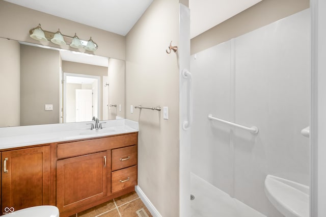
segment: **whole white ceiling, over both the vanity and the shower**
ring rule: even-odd
[[[125,36],[153,0],[5,0]],[[262,0],[189,0],[191,38]]]

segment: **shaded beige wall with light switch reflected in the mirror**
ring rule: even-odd
[[[59,123],[59,62],[58,50],[20,45],[21,126]],[[45,111],[45,104],[53,104],[53,111]]]

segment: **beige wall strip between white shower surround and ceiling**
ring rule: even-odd
[[[309,8],[309,0],[263,0],[191,40],[191,54]]]

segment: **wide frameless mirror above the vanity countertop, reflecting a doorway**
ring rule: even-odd
[[[125,118],[125,62],[0,38],[0,127]]]

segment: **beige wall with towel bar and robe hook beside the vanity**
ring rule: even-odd
[[[138,185],[162,216],[179,214],[179,1],[154,0],[126,36],[127,119],[139,122]],[[130,105],[168,106],[162,112]]]

